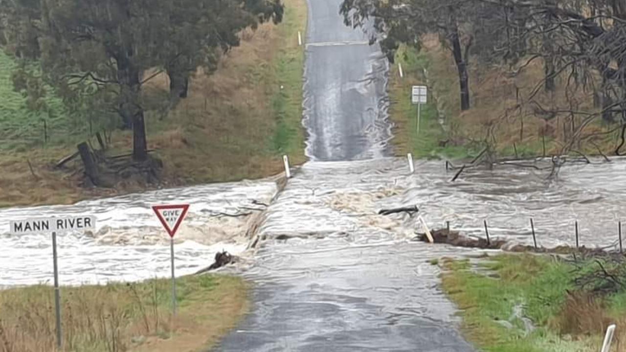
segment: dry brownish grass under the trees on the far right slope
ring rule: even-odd
[[[511,76],[510,70],[503,66],[481,66],[475,61],[471,62],[469,87],[472,107],[468,111],[460,111],[458,74],[451,53],[441,46],[435,36],[426,36],[423,44],[421,55],[425,58],[425,62],[418,62],[419,70],[423,67],[428,68],[428,84],[431,91],[434,91],[439,98],[438,107],[443,110],[446,125],[449,127],[448,135],[440,139],[448,139],[461,145],[489,139],[501,155],[513,155],[513,143],[515,143],[520,156],[531,156],[543,153],[543,137],[545,137],[546,153],[558,153],[571,139],[572,121],[565,113],[553,118],[541,113],[535,104],[529,102],[532,92],[538,88],[538,94],[533,100],[540,103],[546,110],[553,108],[568,110],[570,108],[566,98],[568,94],[572,98],[570,101],[573,101],[575,110],[598,111],[598,108],[593,106],[593,95],[590,91],[566,90],[567,75],[565,73],[557,77],[557,90],[554,93],[544,91],[543,86],[538,87],[538,83],[543,78],[540,60],[532,61],[521,70],[520,75],[516,76]],[[415,68],[405,67],[404,69],[409,71]],[[392,114],[394,114],[393,106]],[[409,128],[406,122],[403,122],[403,118],[397,116],[403,114],[406,115],[405,112],[398,111],[396,116],[392,116],[394,122],[398,123],[396,134],[401,141],[408,140],[409,144],[416,144],[419,138],[410,133],[413,126]],[[574,119],[574,128],[581,125],[583,118],[583,116],[577,116]],[[583,136],[608,132],[613,128],[615,126],[600,122],[598,117],[595,122],[585,128]],[[489,130],[493,131],[493,136],[488,135]],[[617,146],[617,137],[617,132],[598,135],[587,138],[580,144],[577,143],[574,148],[583,153],[598,153],[595,146],[598,145],[603,153],[610,154]],[[401,142],[401,148],[404,148],[406,143]],[[434,148],[433,143],[427,144],[424,146],[418,144],[417,147],[418,149],[419,147]],[[419,154],[419,150],[414,153]]]

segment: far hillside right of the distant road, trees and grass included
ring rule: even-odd
[[[555,169],[564,155],[622,154],[624,1],[344,0],[341,13],[363,28],[373,18],[372,38],[398,64],[398,153],[555,156]],[[431,91],[419,133],[416,83]]]

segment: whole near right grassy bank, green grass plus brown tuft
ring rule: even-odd
[[[610,323],[617,323],[611,351],[626,351],[626,289],[592,294],[574,282],[598,270],[595,261],[576,267],[506,254],[478,264],[445,259],[442,266],[443,289],[461,309],[464,336],[484,351],[598,351]]]

